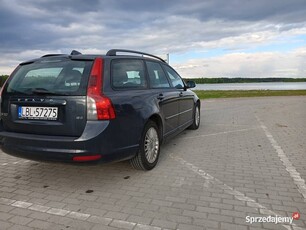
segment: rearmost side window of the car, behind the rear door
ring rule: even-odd
[[[111,62],[111,81],[115,89],[144,89],[147,81],[142,60],[118,59]]]

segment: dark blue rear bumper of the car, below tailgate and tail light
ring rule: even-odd
[[[138,145],[120,147],[112,141],[108,126],[109,121],[89,121],[80,137],[2,131],[0,147],[7,154],[39,161],[73,162],[75,157],[101,155],[96,161],[110,162],[133,157]]]

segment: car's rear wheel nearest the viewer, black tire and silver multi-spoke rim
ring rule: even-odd
[[[145,125],[141,137],[139,151],[137,155],[130,160],[135,169],[151,170],[157,162],[160,152],[160,132],[158,126],[153,121],[148,121]]]

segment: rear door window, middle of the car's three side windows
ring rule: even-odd
[[[167,80],[167,77],[160,66],[160,64],[156,62],[146,62],[147,69],[150,78],[151,88],[167,88],[170,87],[170,84]]]

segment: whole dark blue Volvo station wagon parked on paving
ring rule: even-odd
[[[161,58],[131,50],[48,54],[1,89],[0,144],[14,156],[157,164],[163,141],[200,125],[200,100]]]

